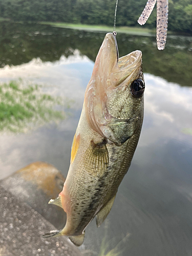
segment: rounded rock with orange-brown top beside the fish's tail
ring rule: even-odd
[[[0,185],[20,202],[30,205],[57,229],[61,229],[66,223],[66,213],[48,202],[58,196],[64,182],[65,178],[53,165],[34,162],[0,181]]]

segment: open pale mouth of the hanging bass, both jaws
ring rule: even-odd
[[[141,67],[142,52],[136,50],[119,58],[116,33],[107,33],[95,60],[93,76],[101,81],[100,78],[104,75],[106,80],[110,79],[111,84],[117,87],[132,73],[137,73],[139,76]],[[105,84],[104,87],[109,86]]]

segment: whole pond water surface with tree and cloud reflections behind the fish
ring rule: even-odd
[[[42,25],[0,23],[0,82],[38,84],[69,101],[64,120],[0,133],[0,178],[35,161],[67,176],[84,91],[104,38]],[[114,206],[101,227],[86,229],[86,255],[191,255],[192,37],[118,34],[120,56],[143,53],[145,110],[140,140]],[[19,80],[19,79],[22,79]],[[30,126],[33,126],[30,123]],[[118,252],[118,254],[115,254]],[[100,253],[100,254],[99,254]]]

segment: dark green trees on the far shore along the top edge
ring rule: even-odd
[[[119,0],[117,26],[139,26],[147,0]],[[0,17],[23,22],[113,26],[116,0],[0,0]],[[155,28],[156,8],[145,27]],[[192,32],[192,0],[169,0],[168,30]]]

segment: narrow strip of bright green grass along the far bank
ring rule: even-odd
[[[53,27],[60,28],[71,28],[86,31],[103,31],[103,32],[113,32],[113,27],[99,26],[99,25],[86,25],[86,24],[70,24],[70,23],[56,23],[56,22],[39,22],[43,25],[51,25]],[[116,27],[117,33],[135,34],[135,35],[155,35],[155,30],[142,28],[142,27]]]

